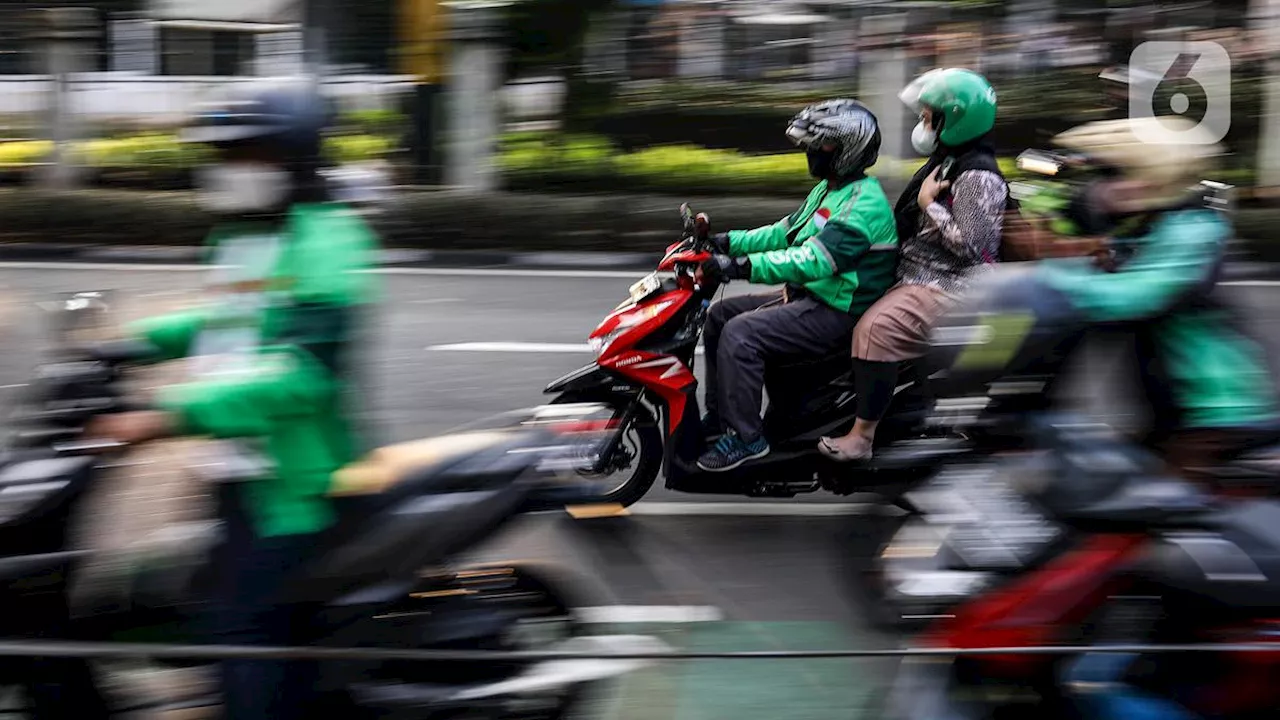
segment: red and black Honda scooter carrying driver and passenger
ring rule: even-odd
[[[620,475],[607,502],[631,505],[666,469],[667,488],[690,493],[794,497],[820,489],[878,492],[896,500],[928,477],[942,459],[964,452],[963,438],[925,424],[932,401],[908,364],[893,405],[877,433],[893,443],[873,465],[844,465],[817,450],[822,436],[854,423],[850,355],[838,352],[765,372],[765,437],[773,451],[728,473],[696,466],[708,429],[701,424],[694,361],[707,311],[721,290],[701,277],[712,256],[709,219],[681,206],[685,237],[669,246],[658,269],[631,286],[628,296],[590,334],[596,360],[547,386],[553,402],[602,402],[616,409],[618,430],[585,475]]]

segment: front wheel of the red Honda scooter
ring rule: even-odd
[[[640,501],[662,470],[662,430],[654,413],[643,400],[614,395],[562,395],[552,404],[599,402],[614,411],[614,418],[625,416],[627,406],[635,404],[630,420],[618,428],[622,433],[609,457],[603,459],[603,470],[595,470],[584,459],[584,466],[576,470],[577,478],[599,484],[599,502],[617,503],[623,507]],[[594,460],[594,459],[593,459]]]

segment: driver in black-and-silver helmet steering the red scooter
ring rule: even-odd
[[[787,137],[805,149],[818,184],[777,223],[716,236],[718,252],[703,265],[722,279],[785,284],[710,307],[704,425],[723,434],[698,460],[707,471],[768,455],[760,418],[767,363],[837,350],[893,282],[892,208],[867,176],[879,156],[876,115],[855,100],[827,100],[795,115]]]

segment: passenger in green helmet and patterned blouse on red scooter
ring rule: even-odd
[[[911,145],[928,155],[895,208],[902,245],[897,283],[854,331],[854,427],[818,448],[837,461],[868,460],[888,411],[899,364],[928,350],[928,333],[975,268],[1000,255],[1009,186],[987,137],[996,91],[959,68],[924,73],[900,94],[920,117]]]

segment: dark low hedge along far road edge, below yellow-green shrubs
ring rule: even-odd
[[[896,196],[900,183],[887,183]],[[758,227],[791,213],[790,196],[676,197],[662,195],[547,195],[452,191],[403,192],[374,224],[388,247],[453,250],[591,250],[658,254],[680,231],[676,210],[689,201],[716,229]],[[188,192],[0,190],[0,241],[192,246],[211,219]],[[1280,210],[1243,210],[1238,228],[1254,254],[1280,259],[1274,247]]]

